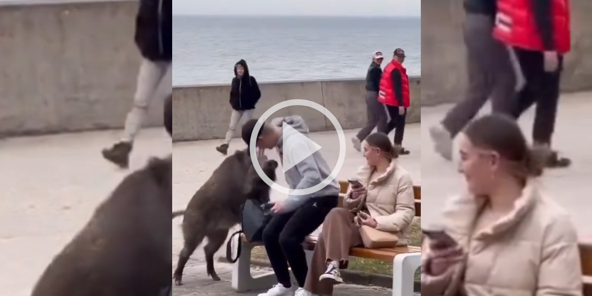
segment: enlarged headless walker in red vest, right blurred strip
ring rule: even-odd
[[[551,150],[563,57],[571,45],[569,0],[497,0],[494,37],[513,48],[526,82],[509,113],[519,118],[536,103],[535,146],[547,152],[547,166],[569,166],[570,159]]]

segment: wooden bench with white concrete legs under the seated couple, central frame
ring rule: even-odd
[[[341,195],[339,207],[343,206],[343,199],[348,190],[349,183],[340,181]],[[416,217],[421,217],[422,213],[422,193],[420,186],[415,186],[415,208]],[[314,247],[317,243],[317,236],[309,236],[304,242],[304,250],[307,261],[310,265]],[[232,288],[237,292],[246,292],[258,289],[269,288],[276,284],[277,279],[273,273],[253,276],[251,274],[251,252],[253,247],[261,246],[260,243],[249,243],[243,238],[242,250],[239,260],[233,265]],[[365,247],[352,247],[349,256],[377,259],[385,262],[392,262],[392,295],[408,296],[413,295],[414,276],[420,266],[421,249],[420,247],[405,246],[392,247],[385,249],[366,249]]]

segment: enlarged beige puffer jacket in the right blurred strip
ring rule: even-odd
[[[510,214],[470,237],[484,205],[482,198],[465,196],[446,207],[446,231],[467,256],[442,276],[422,274],[424,296],[582,295],[580,254],[570,215],[539,191],[537,181],[529,181]],[[426,242],[422,252],[428,255]]]

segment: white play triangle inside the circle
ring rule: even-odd
[[[284,173],[322,148],[287,123],[282,124],[282,143],[284,143],[282,155]]]

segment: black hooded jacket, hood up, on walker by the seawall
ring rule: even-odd
[[[244,68],[244,74],[239,78],[236,73],[236,66],[241,65]],[[232,79],[230,89],[230,106],[237,111],[255,109],[255,105],[261,98],[261,91],[255,77],[249,75],[247,62],[239,60],[234,64],[234,78]]]

